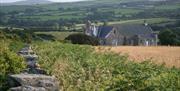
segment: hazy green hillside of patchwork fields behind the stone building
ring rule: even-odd
[[[2,6],[0,26],[26,28],[72,28],[74,24],[91,21],[121,21],[146,18],[179,19],[178,0],[95,0],[45,5]],[[46,27],[44,27],[46,26]]]

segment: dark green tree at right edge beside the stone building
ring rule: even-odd
[[[159,33],[159,39],[162,45],[180,45],[180,32],[166,29]]]

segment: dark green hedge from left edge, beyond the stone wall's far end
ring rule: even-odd
[[[35,40],[55,40],[55,37],[48,34],[36,34],[31,30],[0,29],[0,38],[14,41],[15,44],[31,43]],[[14,45],[14,46],[17,46]],[[22,46],[20,46],[22,47]]]

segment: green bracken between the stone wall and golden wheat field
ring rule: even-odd
[[[180,90],[180,69],[134,63],[112,52],[97,53],[91,46],[38,42],[34,48],[42,68],[65,91]]]

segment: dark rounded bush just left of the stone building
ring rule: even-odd
[[[69,35],[65,40],[71,41],[73,44],[87,44],[87,45],[99,45],[99,41],[95,37],[87,36],[85,34],[72,34]]]

